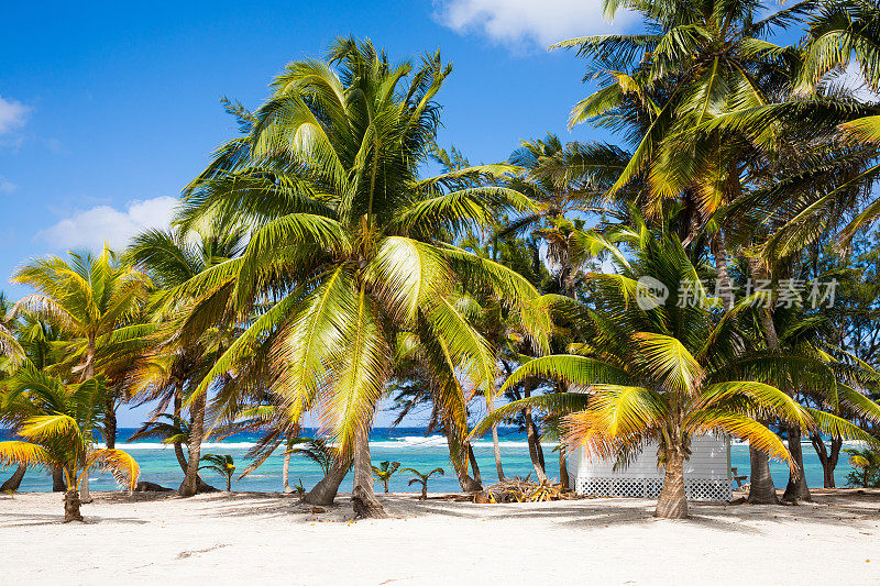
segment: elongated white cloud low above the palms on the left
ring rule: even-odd
[[[58,248],[99,248],[107,242],[119,250],[143,230],[167,226],[177,203],[176,198],[162,196],[130,201],[125,210],[98,206],[41,230],[36,237]]]

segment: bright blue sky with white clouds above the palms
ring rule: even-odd
[[[246,4],[246,5],[244,5]],[[583,64],[554,41],[622,30],[597,0],[387,2],[16,2],[0,36],[0,274],[23,259],[167,222],[180,188],[233,133],[219,99],[249,108],[287,62],[338,35],[395,59],[442,51],[442,144],[473,162],[521,139],[570,133]],[[23,288],[8,284],[18,298]],[[143,411],[120,413],[134,425]],[[388,420],[382,416],[377,424]]]

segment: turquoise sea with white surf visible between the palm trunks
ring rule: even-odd
[[[177,488],[183,479],[183,473],[174,456],[174,450],[155,441],[128,442],[127,439],[134,432],[133,429],[120,429],[117,447],[127,450],[141,466],[141,479],[157,483],[169,488]],[[306,434],[304,432],[304,434]],[[501,431],[501,451],[504,472],[507,476],[526,476],[532,472],[529,460],[528,446],[521,433],[513,430]],[[252,434],[238,434],[223,440],[222,442],[207,442],[202,446],[202,454],[231,454],[235,458],[239,471],[244,471],[249,461],[244,458],[245,452],[253,445],[256,436]],[[480,464],[484,482],[492,484],[497,478],[495,472],[495,458],[492,449],[492,438],[487,436],[477,440],[473,444],[474,454]],[[559,466],[556,452],[551,452],[552,445],[544,445],[544,457],[547,458],[548,474],[558,476]],[[383,460],[400,462],[403,467],[416,468],[420,472],[428,472],[436,467],[446,471],[444,476],[431,477],[429,490],[431,491],[458,491],[460,489],[458,479],[449,463],[449,450],[446,439],[440,435],[425,436],[425,430],[418,428],[395,428],[395,429],[374,429],[371,433],[371,451],[373,462],[377,464]],[[822,486],[822,464],[818,462],[813,446],[809,443],[803,445],[804,467],[806,479],[811,487]],[[282,490],[282,463],[283,450],[277,450],[275,454],[263,463],[261,467],[235,482],[233,490],[254,490],[254,491],[279,491]],[[746,445],[734,445],[730,450],[730,464],[739,468],[739,474],[749,473],[749,454]],[[11,471],[7,469],[6,475]],[[771,463],[771,472],[777,487],[784,487],[788,480],[788,468],[783,464]],[[835,471],[837,486],[845,484],[844,478],[849,472],[846,457],[840,458],[840,463]],[[290,483],[297,483],[301,478],[302,485],[308,489],[321,479],[320,468],[302,458],[294,456],[290,460]],[[206,482],[217,487],[222,487],[223,483],[216,473],[205,471]],[[408,486],[411,478],[409,473],[397,473],[393,476],[391,489],[395,493],[417,493],[420,490],[418,485]],[[348,478],[342,485],[342,490],[350,489],[351,479]],[[90,478],[92,490],[113,490],[117,484],[109,474],[92,475]],[[48,491],[52,489],[52,479],[42,473],[29,472],[21,485],[22,491]],[[376,489],[381,490],[380,484]]]

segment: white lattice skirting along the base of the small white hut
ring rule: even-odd
[[[663,488],[662,478],[584,478],[579,477],[574,490],[593,497],[657,498]],[[684,493],[690,500],[730,500],[729,479],[684,478]]]

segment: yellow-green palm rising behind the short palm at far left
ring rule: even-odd
[[[15,270],[12,281],[37,290],[19,300],[13,313],[24,311],[50,321],[70,336],[68,352],[76,361],[70,372],[81,382],[95,377],[99,339],[135,318],[152,287],[146,275],[119,263],[107,246],[98,256],[68,253],[67,261],[58,256],[37,258]],[[116,442],[117,399],[112,392],[105,396],[105,440],[109,446]],[[88,478],[82,484],[82,499],[89,500]]]

